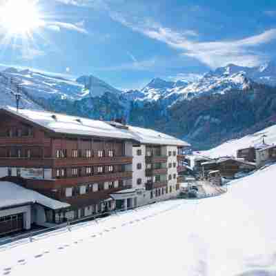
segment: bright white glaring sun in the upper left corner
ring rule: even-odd
[[[43,25],[37,0],[0,1],[0,26],[10,36],[26,36]]]

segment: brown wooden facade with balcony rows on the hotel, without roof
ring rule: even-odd
[[[25,178],[22,168],[48,170],[48,177]],[[57,134],[3,110],[0,169],[1,177],[23,177],[26,188],[68,202],[73,210],[108,199],[132,183],[132,156],[125,155],[125,140]],[[93,184],[97,190],[90,188]],[[66,188],[76,192],[68,196]]]

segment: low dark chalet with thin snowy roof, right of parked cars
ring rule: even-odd
[[[208,177],[208,172],[219,170],[221,177],[233,179],[237,172],[250,172],[255,170],[254,163],[233,158],[219,158],[201,164],[204,177]]]

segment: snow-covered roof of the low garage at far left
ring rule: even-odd
[[[50,209],[68,208],[70,205],[45,195],[23,188],[8,181],[0,181],[0,208],[8,208],[20,204],[41,204]]]

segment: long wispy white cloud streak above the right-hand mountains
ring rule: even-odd
[[[226,66],[228,63],[235,63],[239,66],[257,66],[267,61],[269,57],[257,51],[256,48],[276,39],[276,29],[270,29],[244,39],[199,42],[190,38],[190,31],[188,33],[187,30],[176,32],[150,19],[132,22],[119,13],[113,12],[110,16],[135,32],[164,42],[171,48],[180,50],[182,55],[193,57],[211,68]]]

